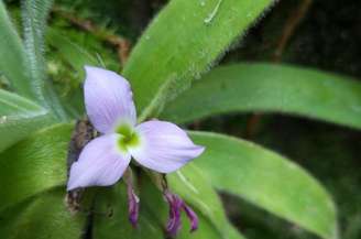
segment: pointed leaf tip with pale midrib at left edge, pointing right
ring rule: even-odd
[[[0,89],[0,152],[53,121],[44,108]]]

